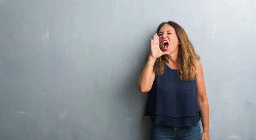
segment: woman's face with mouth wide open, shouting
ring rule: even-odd
[[[158,36],[160,49],[162,51],[174,53],[175,50],[178,50],[178,37],[175,29],[171,25],[163,25],[163,27],[161,27],[159,30]]]

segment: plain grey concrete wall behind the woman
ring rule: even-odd
[[[211,140],[255,140],[253,0],[0,0],[0,139],[147,140],[137,79],[169,20],[202,58]]]

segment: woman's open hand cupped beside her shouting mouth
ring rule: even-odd
[[[151,39],[151,51],[150,51],[150,57],[151,59],[157,59],[163,55],[170,54],[167,51],[162,51],[159,46],[159,36],[157,34],[154,34],[154,38]]]

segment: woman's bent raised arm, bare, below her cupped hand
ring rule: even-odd
[[[155,59],[148,57],[148,62],[146,63],[142,73],[140,74],[140,78],[138,81],[138,87],[140,92],[148,92],[151,90],[152,84],[154,82],[155,73],[153,71]]]

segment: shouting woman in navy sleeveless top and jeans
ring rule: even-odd
[[[152,122],[150,140],[209,140],[209,107],[199,60],[180,25],[159,25],[138,80],[139,90],[148,92],[144,115]]]

